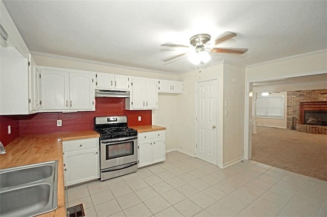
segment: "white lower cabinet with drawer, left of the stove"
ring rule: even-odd
[[[63,141],[62,149],[65,186],[100,177],[99,138]]]

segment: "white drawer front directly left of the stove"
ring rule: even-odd
[[[99,138],[63,141],[63,151],[75,151],[87,148],[98,148]]]

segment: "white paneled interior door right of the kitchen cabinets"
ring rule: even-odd
[[[217,79],[197,83],[196,156],[217,165]]]

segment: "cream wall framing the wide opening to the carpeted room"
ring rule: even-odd
[[[246,67],[246,82],[245,82],[245,122],[244,122],[244,155],[245,158],[251,158],[251,107],[248,97],[250,83],[267,80],[274,80],[287,77],[306,76],[314,74],[327,73],[327,50],[321,50],[304,55],[284,58],[280,60],[270,61],[262,64]]]

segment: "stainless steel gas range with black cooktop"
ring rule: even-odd
[[[100,133],[100,180],[137,171],[137,131],[127,127],[126,116],[96,117]]]

